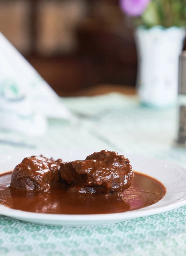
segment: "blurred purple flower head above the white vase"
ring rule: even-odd
[[[141,16],[151,0],[120,0],[120,6],[128,16]]]

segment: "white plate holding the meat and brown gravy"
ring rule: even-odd
[[[25,156],[39,155],[43,152],[28,152],[26,155],[16,153],[9,156],[0,157],[0,173],[10,171]],[[44,154],[46,157],[54,159],[63,156],[64,161],[81,160],[89,154],[85,152],[52,152]],[[162,182],[167,189],[165,197],[158,203],[144,207],[139,210],[128,211],[116,214],[96,214],[96,215],[64,215],[64,214],[40,214],[9,209],[0,205],[0,214],[16,218],[18,220],[32,222],[36,224],[52,226],[96,226],[110,223],[122,222],[136,217],[158,214],[169,211],[186,204],[186,169],[168,163],[167,161],[149,159],[141,155],[125,154],[132,164],[133,170],[147,174]]]

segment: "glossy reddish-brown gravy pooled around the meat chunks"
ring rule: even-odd
[[[9,187],[12,172],[0,175],[0,204],[16,210],[46,214],[110,214],[140,209],[161,200],[165,187],[149,176],[134,172],[130,188],[121,196],[67,192],[62,184],[49,193]]]

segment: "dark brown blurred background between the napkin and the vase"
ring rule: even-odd
[[[118,0],[0,0],[0,31],[60,96],[135,93],[133,27]]]

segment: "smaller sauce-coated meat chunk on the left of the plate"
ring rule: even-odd
[[[61,159],[54,161],[42,155],[26,157],[14,168],[10,186],[22,190],[48,191],[59,182],[60,163]]]

